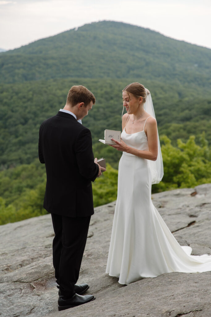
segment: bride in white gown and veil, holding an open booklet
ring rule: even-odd
[[[151,185],[163,177],[163,161],[150,92],[140,83],[122,91],[122,151],[106,273],[130,284],[163,273],[211,270],[211,256],[191,256],[152,204]]]

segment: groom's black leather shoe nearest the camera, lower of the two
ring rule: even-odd
[[[94,301],[94,300],[95,300],[95,296],[93,295],[81,296],[81,295],[75,294],[71,298],[65,298],[64,296],[59,296],[58,309],[59,311],[68,309],[71,307],[76,307],[82,304],[89,303],[90,301]]]

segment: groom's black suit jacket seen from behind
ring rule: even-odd
[[[62,216],[93,215],[91,181],[99,167],[94,163],[90,130],[59,111],[40,126],[39,159],[47,174],[43,207]]]

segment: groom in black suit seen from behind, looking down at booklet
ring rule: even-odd
[[[95,97],[86,87],[73,86],[64,109],[40,126],[39,159],[47,174],[43,207],[51,213],[55,233],[53,266],[59,310],[95,299],[81,296],[88,284],[76,284],[94,214],[91,181],[105,171],[94,160],[90,130],[81,124],[94,104]]]

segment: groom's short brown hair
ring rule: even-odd
[[[95,104],[95,96],[84,86],[72,86],[67,95],[67,103],[74,107],[80,102],[84,102],[84,106],[88,106],[90,102]]]

